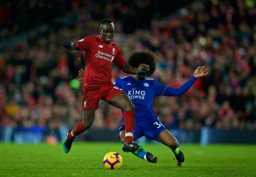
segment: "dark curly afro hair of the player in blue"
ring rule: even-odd
[[[150,74],[156,70],[154,54],[151,51],[135,51],[128,59],[128,64],[134,68],[138,68],[142,63],[149,65]]]

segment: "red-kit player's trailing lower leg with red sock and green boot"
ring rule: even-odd
[[[65,153],[68,153],[70,151],[70,148],[75,137],[92,126],[94,116],[95,109],[82,111],[83,120],[77,123],[73,130],[68,131],[66,139],[64,140],[63,150]]]

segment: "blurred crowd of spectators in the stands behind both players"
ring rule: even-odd
[[[84,69],[84,52],[60,43],[99,34],[100,20],[108,17],[126,60],[133,51],[154,52],[157,70],[151,77],[160,83],[177,88],[197,66],[209,71],[182,97],[156,97],[153,106],[166,127],[256,130],[256,2],[197,1],[164,15],[152,3],[72,0],[71,18],[54,17],[15,48],[2,46],[0,126],[73,127],[81,120],[78,71]],[[113,81],[123,75],[113,66]],[[121,116],[101,101],[93,128],[116,129]]]

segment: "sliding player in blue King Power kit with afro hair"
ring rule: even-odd
[[[183,152],[179,149],[177,139],[160,122],[159,117],[154,112],[152,103],[155,95],[162,96],[182,96],[198,77],[208,74],[204,66],[195,69],[194,74],[179,88],[172,88],[158,83],[149,77],[154,73],[156,64],[154,55],[150,51],[134,52],[128,60],[128,63],[138,69],[139,74],[134,76],[119,77],[114,85],[125,91],[135,105],[136,122],[134,126],[133,140],[145,136],[149,140],[156,140],[168,146],[175,154],[178,164],[184,162]],[[82,70],[79,75],[83,75]],[[122,111],[123,112],[123,111]],[[123,118],[122,118],[123,120]],[[118,137],[124,143],[125,125],[118,130]],[[151,152],[142,151],[135,154],[141,159],[148,160],[151,163],[157,163],[157,157]]]

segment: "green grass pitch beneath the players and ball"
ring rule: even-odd
[[[169,148],[145,144],[158,157],[152,164],[121,150],[121,143],[74,142],[70,153],[62,145],[16,145],[0,143],[1,177],[255,177],[256,145],[183,144],[185,162],[176,165]],[[107,170],[102,159],[108,151],[123,157],[119,170]]]

